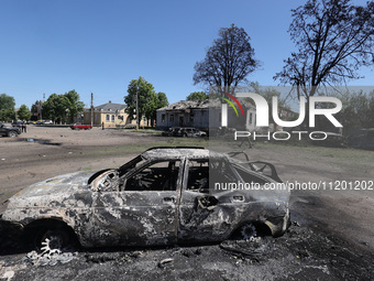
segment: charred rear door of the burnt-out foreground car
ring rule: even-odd
[[[237,182],[227,162],[215,181]],[[215,193],[209,186],[209,160],[188,160],[180,195],[178,241],[217,241],[226,239],[241,215],[230,192]],[[221,177],[221,180],[219,179]],[[211,181],[213,182],[213,181]],[[243,202],[244,203],[244,202]]]

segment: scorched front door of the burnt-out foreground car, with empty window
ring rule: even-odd
[[[95,206],[99,245],[176,241],[180,161],[147,162],[124,175],[121,191],[99,193]]]

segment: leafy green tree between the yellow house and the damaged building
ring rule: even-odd
[[[124,102],[128,105],[127,112],[130,117],[133,115],[139,116],[139,121],[145,116],[147,119],[152,119],[153,112],[157,106],[157,95],[151,83],[145,80],[143,77],[139,79],[132,79],[128,86],[129,95],[124,96]],[[138,96],[138,108],[136,112],[136,96]]]

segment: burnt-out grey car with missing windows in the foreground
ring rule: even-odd
[[[273,165],[258,163],[204,148],[153,148],[119,169],[33,184],[9,199],[1,219],[36,245],[63,246],[72,235],[84,247],[221,241],[245,236],[249,224],[279,236],[289,225],[289,191],[263,188],[284,184]]]

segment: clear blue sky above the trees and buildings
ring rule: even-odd
[[[1,0],[0,94],[16,107],[75,89],[89,106],[123,102],[139,76],[166,93],[169,102],[185,99],[194,86],[196,62],[231,23],[251,36],[261,69],[248,78],[273,80],[294,48],[287,33],[290,9],[305,1],[121,1]],[[364,1],[354,1],[364,3]],[[365,79],[350,85],[373,85]]]

